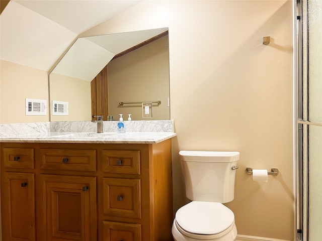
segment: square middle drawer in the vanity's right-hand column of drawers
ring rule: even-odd
[[[104,214],[141,218],[141,180],[103,178]]]

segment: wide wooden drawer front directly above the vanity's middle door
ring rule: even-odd
[[[41,169],[96,171],[96,150],[40,149]]]

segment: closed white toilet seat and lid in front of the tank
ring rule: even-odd
[[[196,239],[219,238],[235,226],[233,212],[218,202],[192,201],[176,213],[178,230]]]

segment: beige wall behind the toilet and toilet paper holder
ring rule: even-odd
[[[144,1],[85,36],[158,27],[169,27],[175,209],[187,201],[179,150],[239,151],[227,204],[238,234],[293,240],[292,1]],[[258,183],[246,167],[280,174]]]

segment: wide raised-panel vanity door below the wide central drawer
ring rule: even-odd
[[[40,175],[41,240],[97,240],[96,178]]]

